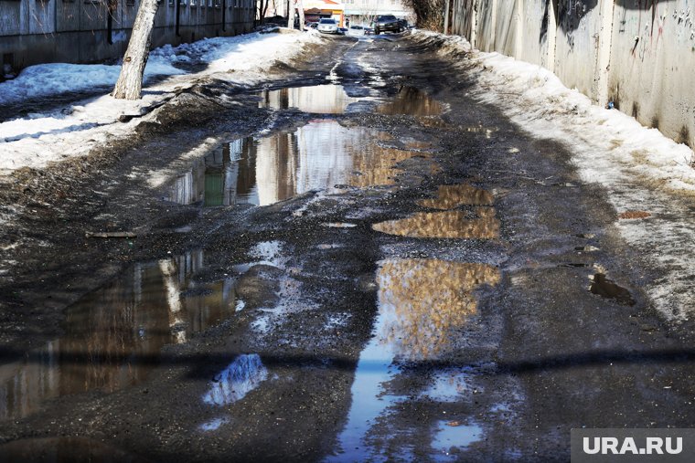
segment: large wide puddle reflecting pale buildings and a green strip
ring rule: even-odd
[[[394,164],[416,153],[382,147],[385,135],[363,127],[315,120],[295,132],[225,143],[193,163],[166,199],[189,205],[271,205],[336,185],[394,184]]]

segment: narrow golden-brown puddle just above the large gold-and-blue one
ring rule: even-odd
[[[499,220],[492,207],[476,207],[478,218],[469,218],[465,211],[416,213],[400,220],[374,224],[381,233],[399,237],[478,238],[499,237]]]

